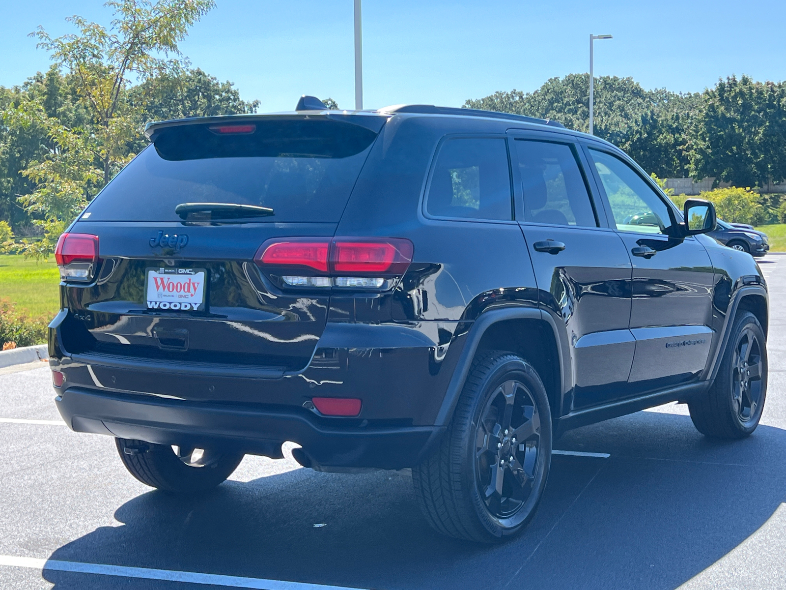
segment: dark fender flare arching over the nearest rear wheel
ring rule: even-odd
[[[534,319],[547,324],[553,332],[554,341],[556,342],[557,354],[559,356],[559,374],[560,382],[557,384],[559,387],[558,395],[564,396],[566,391],[566,382],[570,380],[571,364],[570,359],[567,358],[566,366],[566,348],[563,339],[560,337],[560,330],[557,329],[554,319],[548,313],[543,313],[538,308],[524,308],[524,307],[511,307],[493,309],[481,313],[472,323],[467,335],[467,341],[464,348],[461,349],[461,356],[459,356],[456,369],[450,382],[448,383],[443,403],[439,407],[439,413],[435,420],[435,426],[447,426],[453,418],[454,409],[458,403],[458,398],[461,395],[461,390],[464,389],[464,384],[469,374],[469,368],[472,366],[472,359],[475,357],[478,350],[478,345],[483,339],[483,334],[494,326],[494,324],[505,322],[512,319]],[[570,354],[567,352],[567,354]],[[560,399],[561,402],[561,399]]]

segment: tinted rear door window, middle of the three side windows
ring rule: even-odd
[[[597,227],[575,153],[564,143],[516,139],[524,194],[524,220]]]

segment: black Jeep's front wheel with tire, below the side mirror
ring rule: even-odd
[[[689,400],[696,430],[707,437],[750,436],[762,418],[767,396],[767,347],[764,330],[751,312],[734,319],[718,376],[709,391]]]

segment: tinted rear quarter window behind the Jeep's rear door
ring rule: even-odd
[[[437,217],[509,221],[512,190],[504,138],[452,138],[439,149],[426,199]]]

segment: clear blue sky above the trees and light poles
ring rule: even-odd
[[[194,66],[229,79],[262,112],[291,110],[300,94],[354,105],[352,0],[217,0],[182,43]],[[27,34],[72,31],[79,14],[108,24],[94,0],[0,0],[0,84],[19,84],[49,58]],[[589,33],[597,76],[645,88],[697,91],[721,76],[786,79],[786,2],[748,0],[364,0],[365,107],[460,106],[494,90],[534,90],[586,72]]]

